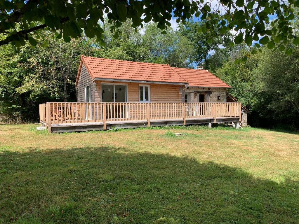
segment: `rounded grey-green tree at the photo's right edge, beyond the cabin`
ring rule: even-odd
[[[267,107],[271,116],[288,117],[299,115],[299,50],[286,56],[284,53],[273,53],[264,49],[263,60],[254,70],[257,77],[257,93],[268,99]],[[264,101],[260,99],[260,103]],[[289,108],[286,110],[286,108]]]

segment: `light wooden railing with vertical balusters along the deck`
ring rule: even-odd
[[[216,117],[241,117],[241,103],[78,103],[48,102],[39,105],[39,120],[44,126],[62,123],[157,120],[187,120]],[[51,126],[51,125],[50,125]]]

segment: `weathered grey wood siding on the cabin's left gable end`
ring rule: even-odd
[[[78,80],[78,84],[77,84],[77,102],[85,102],[85,86],[86,85],[90,85],[90,89],[91,89],[91,102],[94,102],[94,87],[93,87],[93,82],[92,79],[85,67],[85,65],[82,65],[81,68],[81,72],[80,72],[80,76],[79,76],[79,80]]]

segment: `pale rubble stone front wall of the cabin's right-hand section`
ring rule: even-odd
[[[189,103],[198,103],[199,102],[199,94],[196,94],[194,97],[194,91],[200,91],[205,94],[205,102],[226,102],[226,88],[210,88],[210,90],[205,87],[189,87],[189,89],[185,89],[185,94],[188,94],[188,102]],[[217,96],[220,96],[220,100],[217,100]]]

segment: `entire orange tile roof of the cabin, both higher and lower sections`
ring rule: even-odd
[[[81,55],[75,86],[77,86],[83,63],[92,79],[189,83],[189,86],[230,88],[229,85],[207,70],[175,68],[164,64],[131,62],[83,55]]]

